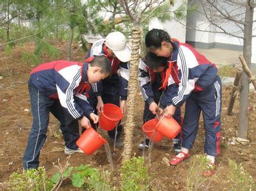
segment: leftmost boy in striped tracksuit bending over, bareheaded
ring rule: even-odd
[[[89,128],[89,119],[98,122],[94,108],[87,101],[89,83],[100,81],[111,74],[105,56],[79,63],[59,60],[43,63],[31,71],[28,81],[33,124],[23,157],[24,169],[37,169],[39,154],[46,142],[49,112],[60,121],[65,140],[65,154],[82,153],[76,145],[81,126]]]

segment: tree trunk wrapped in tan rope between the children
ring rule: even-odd
[[[134,26],[132,29],[132,58],[130,61],[130,79],[128,85],[127,118],[124,126],[124,151],[123,163],[132,156],[133,129],[135,127],[135,101],[138,86],[139,70],[139,46],[141,40],[141,29]]]

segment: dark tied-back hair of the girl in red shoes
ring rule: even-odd
[[[173,45],[173,42],[171,42],[171,37],[162,29],[151,29],[151,31],[148,31],[145,37],[146,47],[153,46],[155,48],[159,48],[162,46],[163,41],[170,42]]]

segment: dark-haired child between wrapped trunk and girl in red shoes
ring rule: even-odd
[[[157,56],[151,52],[147,53],[139,62],[139,85],[141,87],[142,97],[145,101],[143,124],[148,120],[154,119],[157,115],[158,102],[161,95],[164,93],[162,81],[164,81],[166,75],[166,64],[166,57]],[[177,108],[173,118],[179,124],[182,124],[180,108]],[[181,134],[173,138],[173,149],[175,152],[180,152],[180,138]],[[146,138],[145,144],[144,141],[142,141],[138,145],[138,149],[143,149],[143,147],[149,147],[149,138]]]

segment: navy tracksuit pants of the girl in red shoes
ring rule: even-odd
[[[192,92],[187,99],[182,126],[182,147],[192,148],[198,132],[201,112],[205,128],[204,152],[216,156],[219,154],[221,129],[221,79],[219,76],[210,87],[201,92]]]

